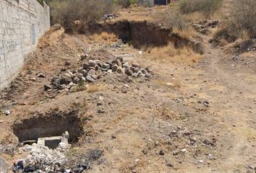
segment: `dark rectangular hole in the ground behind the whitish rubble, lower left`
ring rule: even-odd
[[[59,145],[61,141],[58,136],[63,136],[66,131],[69,133],[69,143],[76,143],[83,132],[80,118],[72,115],[72,113],[68,115],[31,117],[14,124],[13,130],[14,135],[19,138],[20,142],[32,144],[43,140],[45,146],[49,148]]]

